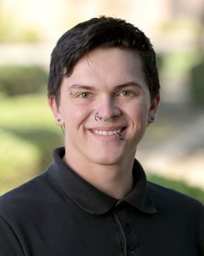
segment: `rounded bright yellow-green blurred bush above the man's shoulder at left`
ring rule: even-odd
[[[13,133],[0,130],[0,193],[26,182],[39,168],[39,150]]]

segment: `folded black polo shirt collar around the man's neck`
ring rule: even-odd
[[[53,163],[49,165],[49,174],[55,178],[58,185],[80,208],[95,215],[107,213],[119,201],[125,201],[144,213],[155,213],[155,205],[148,195],[145,171],[134,161],[134,189],[124,199],[114,199],[101,192],[76,174],[64,161],[64,147],[53,150]]]

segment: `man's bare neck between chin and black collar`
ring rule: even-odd
[[[132,168],[134,156],[117,164],[84,164],[65,155],[64,161],[77,175],[91,185],[116,199],[123,199],[133,189]],[[82,164],[83,163],[83,164]]]

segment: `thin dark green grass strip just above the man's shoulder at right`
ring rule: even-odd
[[[148,175],[148,180],[166,188],[175,189],[185,195],[192,196],[204,202],[204,191],[202,189],[186,185],[185,182],[175,181],[158,175]]]

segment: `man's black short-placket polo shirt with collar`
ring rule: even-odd
[[[1,256],[204,255],[204,210],[196,199],[147,182],[134,161],[134,189],[114,199],[63,162],[0,198]],[[80,160],[79,160],[80,161]]]

